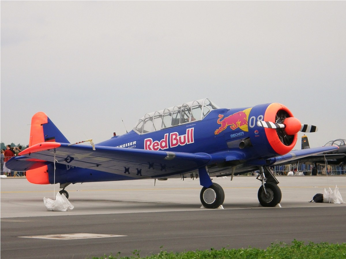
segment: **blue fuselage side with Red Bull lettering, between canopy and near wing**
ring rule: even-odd
[[[258,157],[265,159],[291,150],[291,147],[270,139],[265,128],[257,126],[257,121],[264,119],[269,106],[271,104],[213,109],[199,120],[148,133],[139,133],[134,129],[96,145],[186,153],[236,154],[242,160]],[[276,150],[272,146],[273,142]],[[278,148],[280,145],[284,149]],[[291,143],[289,146],[294,145]]]

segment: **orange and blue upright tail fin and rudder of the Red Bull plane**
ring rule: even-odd
[[[42,142],[70,143],[44,112],[38,112],[31,118],[29,146]],[[30,183],[49,184],[48,166],[28,170],[26,178]]]

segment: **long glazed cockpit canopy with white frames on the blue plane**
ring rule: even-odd
[[[208,98],[165,108],[162,111],[144,115],[139,119],[134,131],[145,134],[184,123],[200,121],[214,109],[219,109],[219,107]]]

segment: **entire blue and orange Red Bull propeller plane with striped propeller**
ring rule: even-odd
[[[70,143],[43,112],[31,119],[29,147],[6,166],[26,171],[35,184],[69,184],[169,178],[199,179],[204,208],[219,208],[225,193],[213,177],[259,170],[258,201],[280,203],[279,181],[269,166],[337,150],[336,146],[292,151],[298,132],[316,132],[279,103],[219,108],[208,98],[145,114],[130,132],[89,145]],[[82,141],[84,142],[84,141]],[[85,143],[84,143],[85,144]]]

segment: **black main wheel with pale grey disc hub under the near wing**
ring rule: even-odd
[[[216,209],[222,205],[222,203],[224,203],[224,189],[222,189],[222,187],[217,183],[213,183],[208,188],[203,187],[201,190],[200,199],[204,208]]]

